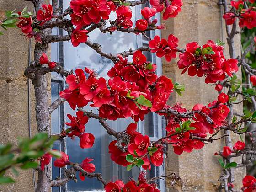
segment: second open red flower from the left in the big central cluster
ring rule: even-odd
[[[90,101],[102,88],[106,88],[106,80],[103,77],[98,80],[89,78],[80,86],[79,90],[84,98]]]

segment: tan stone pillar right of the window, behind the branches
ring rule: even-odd
[[[220,7],[218,0],[183,0],[181,13],[167,21],[162,21],[167,26],[167,30],[162,31],[162,37],[166,38],[169,34],[174,34],[179,38],[179,48],[184,48],[187,43],[197,41],[200,45],[208,40],[222,40],[222,24]],[[225,34],[223,24],[223,34]],[[226,42],[224,36],[224,42]],[[239,45],[239,39],[238,39]],[[237,50],[239,46],[237,46]],[[228,49],[226,56],[229,58]],[[237,51],[239,53],[240,51]],[[186,91],[183,96],[172,94],[169,104],[182,102],[187,109],[192,109],[196,103],[207,105],[216,100],[218,93],[211,84],[205,84],[204,78],[190,77],[186,74],[181,75],[181,69],[177,67],[178,56],[170,62],[163,62],[163,74],[169,76],[174,82],[185,84]],[[240,107],[240,111],[242,107]],[[166,181],[167,192],[213,192],[218,191],[219,176],[221,167],[219,165],[219,156],[214,156],[214,152],[219,151],[224,146],[223,141],[214,141],[205,144],[203,149],[193,150],[192,153],[183,153],[176,155],[173,148],[168,146],[167,158],[165,159],[165,171],[167,173],[177,172],[181,176],[182,186],[177,186],[175,190],[171,189],[170,180]],[[240,169],[240,175],[245,175],[245,169]],[[241,187],[241,176],[236,178],[236,189]]]

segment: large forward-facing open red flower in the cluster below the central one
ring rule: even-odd
[[[138,134],[134,139],[134,143],[128,145],[128,151],[130,154],[134,155],[135,150],[139,156],[142,156],[147,153],[148,146],[149,136]]]

